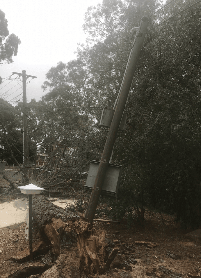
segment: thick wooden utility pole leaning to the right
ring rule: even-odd
[[[124,109],[126,106],[127,98],[129,95],[129,91],[132,85],[132,81],[134,78],[134,73],[136,70],[138,58],[140,55],[140,51],[143,45],[143,40],[145,37],[145,32],[147,31],[148,26],[148,19],[146,17],[142,18],[142,21],[140,23],[140,27],[138,28],[136,37],[134,39],[133,46],[131,48],[131,53],[128,59],[127,67],[124,73],[122,85],[119,91],[118,95],[118,102],[116,105],[116,109],[114,112],[114,116],[111,122],[111,126],[108,132],[107,140],[105,143],[105,147],[102,153],[101,161],[99,164],[99,168],[97,171],[97,176],[95,179],[94,187],[91,192],[91,196],[89,199],[87,211],[85,217],[88,218],[89,222],[92,223],[95,211],[97,208],[97,204],[99,201],[101,189],[104,183],[104,178],[106,176],[106,171],[108,168],[108,164],[110,161],[110,157],[112,154],[113,146],[115,143],[115,139],[118,133],[118,129],[120,126],[120,122],[122,119],[122,115],[124,113]]]

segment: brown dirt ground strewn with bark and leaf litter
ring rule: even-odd
[[[145,218],[148,219],[145,227],[132,229],[127,229],[126,223],[94,221],[95,233],[105,231],[108,251],[114,246],[119,248],[108,272],[99,277],[201,277],[201,245],[185,239],[185,232],[170,216],[146,211]],[[29,241],[24,237],[25,226],[26,223],[20,223],[0,229],[2,278],[24,267],[46,263],[45,255],[25,263],[12,261],[11,257],[18,251],[29,251]],[[75,249],[76,246],[62,252],[70,253]]]

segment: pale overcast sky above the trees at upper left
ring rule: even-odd
[[[26,70],[26,74],[37,77],[29,79],[27,102],[32,98],[40,100],[46,93],[41,90],[45,74],[58,62],[66,63],[76,57],[77,44],[86,39],[82,29],[84,14],[89,6],[98,3],[102,4],[102,0],[1,0],[0,9],[6,14],[9,33],[18,36],[21,44],[13,63],[0,65],[0,76],[6,78],[12,72]],[[22,83],[8,82],[0,85],[0,98],[15,105],[22,98]]]

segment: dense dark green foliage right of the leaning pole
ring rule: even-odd
[[[191,4],[167,6],[157,23]],[[118,152],[146,204],[192,227],[201,220],[200,24],[195,5],[147,33]]]

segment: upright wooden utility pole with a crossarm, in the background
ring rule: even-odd
[[[26,105],[26,77],[37,78],[36,76],[26,74],[26,70],[22,73],[13,72],[13,74],[22,75],[22,92],[23,92],[23,168],[27,173],[29,164],[29,149],[28,149],[28,125],[27,125],[27,105]]]

